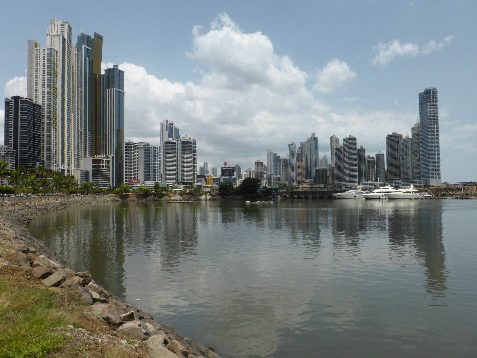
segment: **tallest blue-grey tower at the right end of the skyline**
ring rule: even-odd
[[[437,89],[434,87],[426,88],[419,94],[419,122],[421,178],[425,184],[440,186],[439,108]]]

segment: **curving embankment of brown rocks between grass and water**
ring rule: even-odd
[[[20,267],[32,280],[47,287],[75,291],[83,304],[84,313],[94,317],[109,329],[132,339],[144,341],[149,358],[220,358],[212,348],[178,334],[173,328],[160,324],[134,305],[114,296],[96,284],[89,272],[75,272],[55,257],[39,240],[28,232],[35,216],[68,206],[96,202],[119,201],[111,196],[65,197],[0,202],[0,267]]]

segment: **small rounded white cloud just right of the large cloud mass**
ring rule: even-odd
[[[318,72],[318,79],[313,89],[321,93],[329,93],[355,77],[356,72],[351,71],[347,63],[334,58]]]

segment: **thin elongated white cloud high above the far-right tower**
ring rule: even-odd
[[[401,43],[399,40],[392,40],[389,43],[381,42],[373,46],[373,51],[378,54],[373,58],[373,65],[386,65],[396,57],[416,57],[420,54],[428,55],[436,51],[441,51],[445,45],[450,44],[455,39],[454,36],[446,36],[443,42],[429,41],[424,46],[412,42]]]

